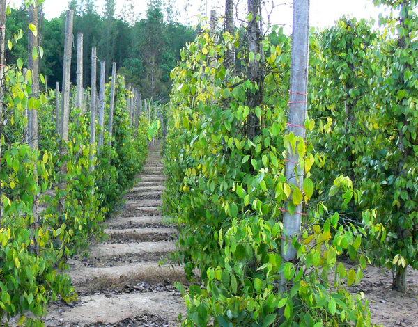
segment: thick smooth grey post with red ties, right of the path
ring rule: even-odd
[[[291,99],[288,113],[288,132],[304,142],[306,131],[304,123],[307,115],[308,61],[309,61],[309,0],[293,0]],[[297,145],[296,145],[297,149]],[[288,152],[286,161],[286,180],[302,189],[304,170],[296,149]],[[284,213],[284,234],[286,240],[281,244],[281,255],[286,261],[296,259],[297,250],[292,245],[293,237],[300,234],[302,204],[297,205],[295,213]]]

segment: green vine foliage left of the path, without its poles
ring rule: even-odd
[[[22,315],[20,322],[38,325],[42,324],[38,319],[26,320],[27,311],[42,316],[49,301],[76,298],[70,278],[61,272],[65,260],[85,250],[91,237],[102,235],[100,222],[118,206],[121,193],[132,185],[144,164],[149,124],[142,119],[134,131],[126,102],[132,95],[118,77],[111,145],[107,133],[101,149],[89,145],[90,113],[72,108],[63,157],[55,128],[54,93],[42,93],[40,99],[29,101],[30,72],[25,75],[20,67],[9,68],[0,170],[0,319]],[[109,90],[110,84],[107,103]],[[26,107],[38,110],[41,150],[37,153],[22,143]],[[100,152],[93,159],[93,171],[92,146],[94,152]],[[65,189],[59,187],[63,181]]]

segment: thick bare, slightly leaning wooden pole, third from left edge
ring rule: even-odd
[[[74,13],[72,10],[67,12],[65,22],[65,44],[64,44],[64,67],[62,83],[62,118],[61,118],[61,138],[64,142],[68,141],[68,124],[70,121],[70,74],[71,74],[71,46],[72,46],[72,24]],[[65,148],[63,144],[61,148]],[[66,151],[66,150],[65,150]]]

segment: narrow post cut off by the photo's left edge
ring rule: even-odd
[[[3,109],[4,109],[4,54],[6,45],[6,0],[0,0],[0,159],[1,159],[1,140],[3,138]],[[0,226],[3,218],[3,204],[1,195],[3,189],[0,184]]]

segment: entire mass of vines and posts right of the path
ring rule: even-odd
[[[367,264],[405,292],[418,268],[418,1],[374,2],[391,7],[379,30],[343,18],[302,35],[308,88],[303,64],[291,79],[307,56],[300,11],[293,49],[279,28],[262,36],[259,1],[241,29],[226,1],[226,30],[183,49],[164,211],[195,282],[178,285],[186,326],[371,326],[348,289]]]

